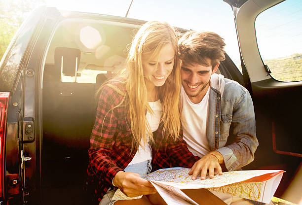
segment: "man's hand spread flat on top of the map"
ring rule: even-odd
[[[195,162],[195,164],[189,171],[189,174],[192,174],[193,180],[197,178],[197,175],[200,173],[200,171],[200,179],[205,179],[208,171],[210,178],[213,178],[214,174],[217,173],[219,173],[219,175],[222,175],[220,163],[223,162],[224,158],[218,151],[209,152],[204,155],[200,160]]]

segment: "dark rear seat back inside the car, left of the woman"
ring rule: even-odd
[[[61,82],[57,62],[45,65],[43,76],[43,201],[62,204],[61,199],[66,199],[67,204],[81,204],[75,194],[81,193],[88,164],[96,87],[94,83]]]

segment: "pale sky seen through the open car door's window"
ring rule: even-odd
[[[302,0],[286,0],[265,10],[255,27],[260,54],[266,59],[302,54]]]

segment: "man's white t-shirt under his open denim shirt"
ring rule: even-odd
[[[206,137],[210,89],[202,101],[194,104],[189,99],[183,86],[181,89],[182,125],[184,140],[189,150],[196,156],[202,157],[210,151]]]

